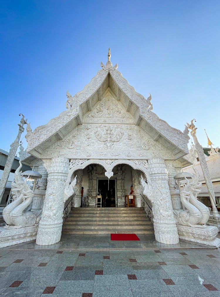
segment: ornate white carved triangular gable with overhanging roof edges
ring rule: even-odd
[[[172,128],[153,113],[151,95],[145,99],[138,94],[117,70],[117,64],[112,67],[111,61],[108,61],[106,66],[101,63],[101,67],[83,91],[74,96],[67,91],[66,111],[34,132],[28,132],[28,153],[46,158],[46,152],[52,148],[67,145],[67,149],[74,146],[86,151],[93,151],[95,147],[99,152],[102,149],[111,150],[109,154],[115,156],[119,150],[126,148],[125,158],[148,158],[159,153],[167,159],[185,156],[189,141],[187,129],[181,132]],[[141,135],[141,129],[145,136]],[[72,131],[77,131],[80,139],[74,141],[74,145],[63,144]],[[130,141],[133,141],[133,145],[127,147]],[[148,146],[156,147],[147,151]],[[165,150],[161,153],[162,147]],[[139,152],[134,153],[135,150]],[[76,150],[75,154],[77,158],[83,152]],[[90,153],[87,155],[91,156]]]

